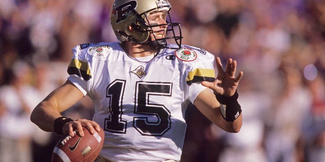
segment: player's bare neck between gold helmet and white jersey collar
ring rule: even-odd
[[[152,50],[148,45],[138,45],[130,42],[123,42],[121,44],[124,51],[131,57],[146,57],[150,55],[155,55],[156,50]]]

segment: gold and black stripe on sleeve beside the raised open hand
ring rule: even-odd
[[[202,81],[213,82],[215,73],[213,69],[194,69],[190,71],[186,78],[186,84],[201,83]]]

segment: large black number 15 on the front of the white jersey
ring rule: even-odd
[[[126,133],[127,121],[122,120],[125,80],[114,80],[108,88],[110,115],[105,119],[105,130]],[[133,127],[145,136],[163,136],[171,128],[171,112],[164,104],[150,102],[150,97],[172,96],[172,83],[137,82]],[[150,119],[149,119],[150,118]]]

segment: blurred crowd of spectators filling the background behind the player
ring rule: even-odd
[[[0,161],[50,161],[61,137],[32,124],[30,112],[67,79],[73,47],[116,42],[112,2],[0,1]],[[244,71],[242,130],[226,133],[189,105],[182,161],[325,161],[325,1],[170,3],[182,44]],[[92,113],[87,97],[64,112]]]

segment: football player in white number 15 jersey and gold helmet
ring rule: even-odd
[[[73,48],[67,82],[34,109],[31,121],[70,136],[82,137],[82,127],[103,128],[100,161],[179,161],[189,102],[221,129],[239,132],[243,72],[235,75],[231,58],[223,69],[209,52],[181,45],[170,9],[164,0],[115,0],[110,18],[118,42]],[[92,120],[61,115],[86,95],[94,103]]]

